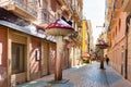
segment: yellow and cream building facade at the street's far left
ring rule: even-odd
[[[90,20],[83,20],[82,23],[82,57],[92,54],[94,51],[93,32]]]

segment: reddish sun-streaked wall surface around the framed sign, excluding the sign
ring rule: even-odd
[[[39,77],[40,71],[40,60],[36,61],[36,50],[40,50],[40,40],[37,38],[32,38],[31,41],[31,53],[29,53],[29,65],[31,65],[31,79],[36,79]]]

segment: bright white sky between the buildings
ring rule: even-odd
[[[94,44],[104,30],[103,26],[105,22],[105,0],[83,0],[83,16],[86,20],[91,20],[93,28]]]

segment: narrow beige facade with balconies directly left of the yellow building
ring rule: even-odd
[[[81,48],[82,48],[82,13],[83,13],[83,1],[82,0],[72,0],[72,18],[73,27],[75,32],[71,35],[73,47],[70,50],[70,58],[72,60],[72,66],[80,64],[81,59]]]

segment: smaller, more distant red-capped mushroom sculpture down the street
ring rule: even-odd
[[[98,47],[102,51],[108,47],[105,41],[99,41],[96,47]],[[100,58],[100,69],[104,69],[104,55]]]

